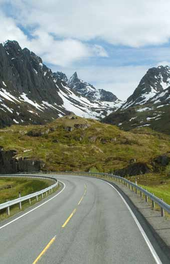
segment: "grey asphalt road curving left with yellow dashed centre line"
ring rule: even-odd
[[[57,196],[0,223],[1,264],[164,264],[112,186],[57,178],[65,184]]]

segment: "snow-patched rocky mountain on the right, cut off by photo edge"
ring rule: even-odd
[[[103,122],[130,130],[150,127],[170,134],[170,68],[151,68],[141,79],[134,93],[117,111]]]

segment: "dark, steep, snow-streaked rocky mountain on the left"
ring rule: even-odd
[[[44,124],[70,112],[100,119],[115,109],[113,103],[89,100],[66,82],[65,74],[53,73],[18,42],[0,44],[0,127]]]

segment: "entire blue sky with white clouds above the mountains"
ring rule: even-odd
[[[170,65],[169,0],[0,0],[0,43],[125,100],[148,68]]]

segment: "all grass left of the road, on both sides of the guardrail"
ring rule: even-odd
[[[0,189],[0,201],[1,201],[0,203],[6,202],[7,200],[13,200],[15,198],[18,198],[18,196],[19,196],[18,191],[19,190],[21,191],[21,195],[25,196],[25,195],[40,191],[42,189],[45,189],[52,184],[52,182],[48,181],[48,180],[37,180],[37,179],[28,180],[28,179],[25,179],[24,177],[20,178],[20,179],[18,179],[18,178],[15,178],[15,179],[12,178],[11,180],[10,179],[11,178],[3,178],[3,179],[0,178],[0,188],[2,186],[7,186],[8,184],[11,184],[13,186],[12,188],[7,189],[9,192],[7,191],[7,193],[4,193],[4,194],[2,192],[3,190]],[[18,180],[19,180],[19,182],[18,182]],[[26,189],[28,186],[30,186],[30,187],[32,186],[32,187]],[[59,186],[55,190],[55,192],[58,191],[60,188],[61,188],[61,185],[59,184]],[[10,192],[10,189],[13,189],[13,190]],[[53,193],[54,193],[54,191],[53,191]],[[49,192],[47,192],[47,196],[44,194],[43,199],[42,199],[42,196],[39,195],[38,201],[36,200],[36,197],[32,198],[31,199],[31,205],[29,204],[29,200],[22,202],[22,209],[21,210],[19,208],[19,204],[10,206],[10,216],[7,214],[7,209],[0,210],[0,221],[5,220],[5,219],[21,212],[21,211],[24,211],[25,209],[27,209],[29,207],[32,207],[36,203],[39,203],[40,201],[51,196],[51,194],[52,193],[49,194]],[[6,197],[8,197],[8,199],[6,199]]]

